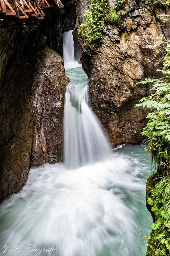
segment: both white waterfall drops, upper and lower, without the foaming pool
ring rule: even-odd
[[[71,67],[74,61],[74,42],[72,32],[64,33],[64,64]],[[70,52],[69,52],[70,51]],[[82,70],[82,69],[81,69]],[[77,71],[77,70],[76,70]],[[72,70],[74,73],[74,71]],[[67,168],[77,168],[106,158],[111,149],[102,126],[88,106],[88,78],[81,78],[69,83],[65,94],[64,108],[64,160]]]

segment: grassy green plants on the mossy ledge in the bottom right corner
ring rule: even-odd
[[[156,223],[151,228],[154,232],[154,247],[147,243],[152,255],[169,255],[170,253],[170,177],[161,180],[152,189],[152,198],[147,198],[156,215]],[[146,238],[146,236],[145,236]],[[151,239],[151,236],[147,238]]]

